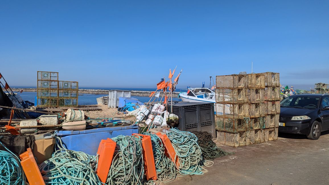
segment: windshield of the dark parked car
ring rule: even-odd
[[[301,109],[316,109],[318,106],[319,97],[307,97],[307,96],[289,96],[282,100],[281,107],[293,107]]]

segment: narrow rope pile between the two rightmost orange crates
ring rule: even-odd
[[[176,178],[176,167],[170,158],[164,155],[164,144],[159,136],[148,132],[142,133],[151,136],[153,156],[158,180],[161,182],[170,182]]]

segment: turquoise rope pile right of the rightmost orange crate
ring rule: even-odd
[[[203,174],[204,159],[197,143],[198,138],[190,132],[178,129],[170,129],[167,136],[176,152],[175,161],[178,157],[179,173],[182,175]]]

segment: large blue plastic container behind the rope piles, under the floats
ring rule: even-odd
[[[96,155],[98,145],[102,139],[113,138],[119,135],[131,136],[133,133],[138,133],[138,131],[138,125],[128,125],[89,130],[63,130],[56,135],[62,136],[61,139],[67,149]]]

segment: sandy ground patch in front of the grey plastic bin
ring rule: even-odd
[[[119,112],[115,108],[109,108],[108,105],[98,105],[102,108],[101,111],[85,111],[85,114],[90,118],[114,118],[114,117],[122,117],[124,119],[129,119],[135,121],[134,116],[128,116],[127,114],[123,114]]]

